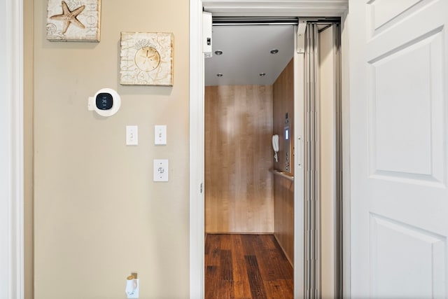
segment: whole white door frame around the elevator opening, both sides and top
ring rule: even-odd
[[[204,298],[204,55],[203,7],[214,15],[340,16],[342,19],[342,127],[344,160],[344,296],[349,296],[348,1],[190,0],[190,298]],[[298,221],[295,221],[297,223]],[[295,238],[296,239],[296,238]],[[296,247],[296,246],[295,246]],[[297,252],[297,248],[294,249]],[[297,277],[298,275],[295,275]],[[298,280],[298,279],[297,279]],[[297,281],[295,279],[295,290]],[[301,298],[298,292],[295,298]]]

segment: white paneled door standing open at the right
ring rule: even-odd
[[[349,9],[351,298],[447,298],[448,1]]]

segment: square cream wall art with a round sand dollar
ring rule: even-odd
[[[173,85],[172,33],[122,32],[120,84]]]

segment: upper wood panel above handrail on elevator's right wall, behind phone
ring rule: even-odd
[[[274,162],[274,168],[283,172],[294,173],[294,63],[291,60],[276,79],[273,88],[274,132],[279,135],[279,162]],[[290,169],[285,168],[285,114],[288,113],[290,127]]]

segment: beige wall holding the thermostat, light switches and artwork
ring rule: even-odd
[[[45,40],[34,5],[35,298],[188,298],[188,1],[102,1],[100,43]],[[174,87],[121,86],[121,31],[174,33]],[[87,97],[116,89],[120,111],[100,118]],[[153,126],[167,125],[167,146]],[[139,146],[125,126],[139,125]],[[169,182],[153,183],[153,159]]]

